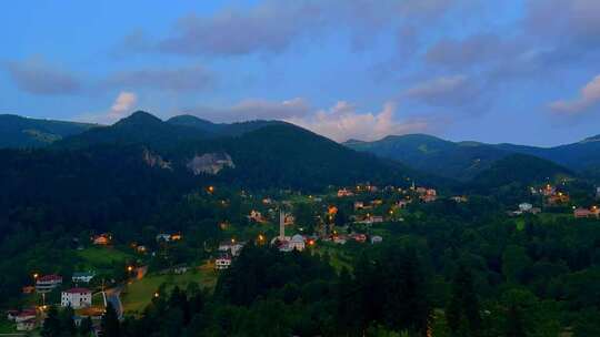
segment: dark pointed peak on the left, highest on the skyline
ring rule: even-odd
[[[94,127],[57,142],[54,147],[79,149],[96,144],[146,144],[160,147],[208,136],[198,129],[166,123],[148,112],[137,111],[110,126]]]

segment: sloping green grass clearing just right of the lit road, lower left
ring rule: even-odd
[[[212,264],[204,264],[201,267],[188,270],[181,275],[163,274],[148,275],[140,280],[134,280],[127,285],[127,288],[121,293],[121,302],[126,313],[140,313],[150,304],[154,293],[162,284],[170,289],[179,286],[186,289],[191,282],[198,283],[201,288],[212,289],[217,284],[217,273]]]

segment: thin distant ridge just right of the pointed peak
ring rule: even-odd
[[[173,125],[190,126],[203,131],[213,136],[239,136],[263,126],[283,124],[280,121],[247,121],[236,123],[212,123],[193,115],[184,114],[171,118],[167,121]]]

